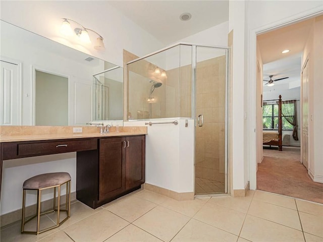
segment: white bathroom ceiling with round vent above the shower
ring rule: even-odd
[[[229,1],[109,1],[110,5],[165,45],[229,19]],[[190,13],[188,21],[180,15]]]

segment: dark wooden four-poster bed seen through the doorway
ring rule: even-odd
[[[272,100],[273,101],[273,100]],[[262,132],[262,145],[275,145],[279,150],[283,150],[282,138],[282,95],[279,95],[278,102],[278,132],[263,131]]]

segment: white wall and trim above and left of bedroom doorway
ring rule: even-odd
[[[230,9],[229,9],[230,11]],[[244,166],[250,166],[250,171],[256,166],[256,138],[253,132],[256,126],[256,34],[262,31],[278,28],[295,20],[310,17],[323,11],[321,1],[247,1],[247,45],[246,45],[246,84],[249,95],[243,94],[244,101],[248,104],[248,129],[244,134],[249,137],[248,159],[244,160]],[[242,92],[242,90],[241,90]],[[235,152],[235,151],[234,151]],[[255,172],[250,172],[250,188],[256,189]]]

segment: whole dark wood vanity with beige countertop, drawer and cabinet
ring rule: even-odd
[[[2,135],[1,173],[3,160],[76,152],[76,198],[97,208],[145,182],[147,129],[129,128],[130,132],[104,135]]]

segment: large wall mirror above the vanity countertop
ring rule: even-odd
[[[0,21],[0,125],[123,120],[123,71]]]

